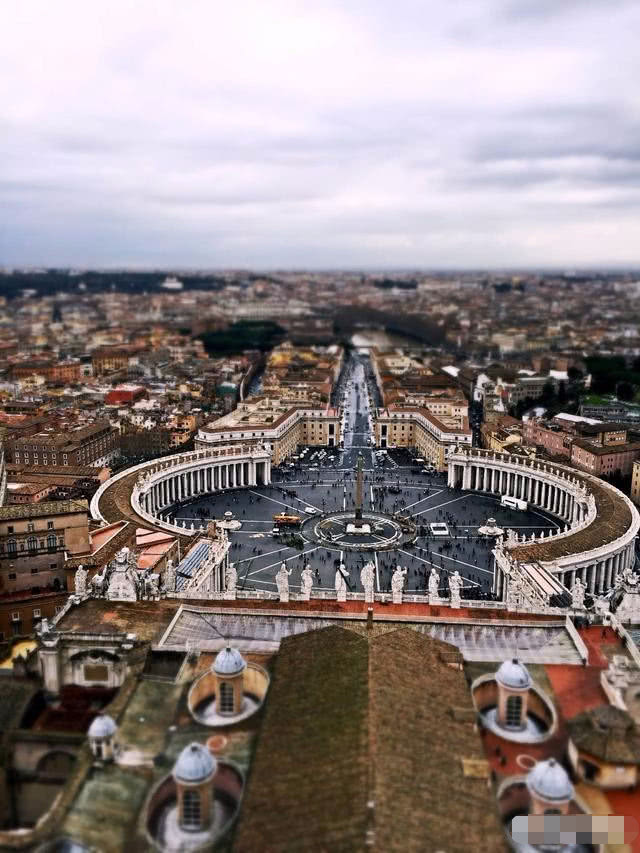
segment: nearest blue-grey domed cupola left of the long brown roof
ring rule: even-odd
[[[190,743],[173,767],[178,797],[178,822],[187,832],[208,829],[213,820],[214,789],[211,781],[217,762],[206,746]]]

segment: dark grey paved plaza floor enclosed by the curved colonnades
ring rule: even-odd
[[[488,517],[495,518],[501,528],[527,536],[558,527],[554,519],[537,510],[511,510],[502,507],[497,498],[450,489],[445,475],[411,473],[410,466],[394,463],[392,455],[384,467],[365,468],[363,511],[410,515],[416,525],[413,541],[384,550],[360,549],[355,542],[351,547],[341,547],[340,542],[319,545],[308,534],[308,524],[299,532],[292,529],[287,534],[281,529],[273,534],[273,516],[298,515],[304,522],[348,510],[355,500],[355,472],[352,466],[341,467],[339,460],[321,469],[299,466],[288,473],[290,470],[274,470],[270,486],[204,496],[171,513],[172,518],[196,526],[210,518],[223,518],[225,512],[233,513],[242,524],[230,534],[230,557],[236,563],[240,588],[275,590],[274,577],[284,561],[294,570],[292,589],[299,586],[300,572],[307,562],[314,571],[314,588],[333,589],[336,567],[344,563],[349,572],[348,588],[362,591],[360,569],[371,560],[376,566],[378,592],[389,590],[393,569],[400,564],[408,568],[406,593],[424,591],[435,566],[443,592],[448,589],[448,574],[457,570],[465,579],[463,596],[476,597],[489,593],[493,581],[494,540],[478,534]],[[435,522],[445,522],[449,535],[434,535],[430,524]]]

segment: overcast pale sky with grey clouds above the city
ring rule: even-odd
[[[19,0],[0,265],[640,264],[638,0]]]

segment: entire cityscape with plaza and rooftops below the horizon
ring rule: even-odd
[[[1,849],[639,814],[632,274],[1,285]]]

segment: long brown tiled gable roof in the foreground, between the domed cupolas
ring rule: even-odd
[[[408,628],[330,627],[282,641],[237,851],[506,850],[459,669]],[[464,803],[465,819],[459,818]]]

